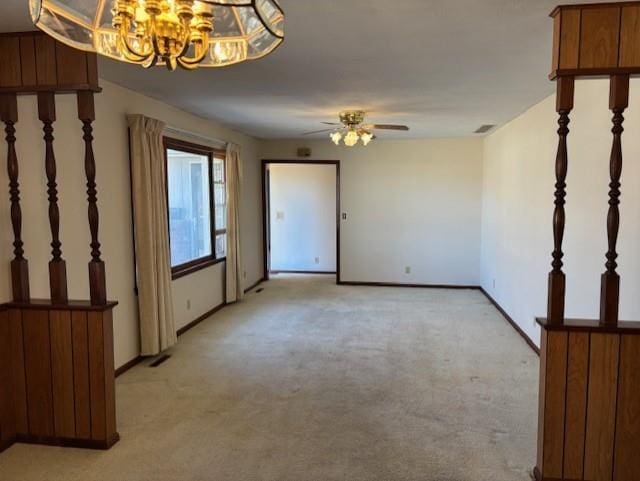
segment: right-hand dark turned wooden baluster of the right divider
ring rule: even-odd
[[[609,93],[609,108],[613,111],[613,146],[609,163],[609,213],[607,215],[607,270],[602,274],[600,289],[600,323],[616,325],[620,300],[620,276],[616,272],[618,253],[618,231],[620,229],[620,177],[622,175],[622,132],[624,111],[629,106],[629,75],[612,75]]]

